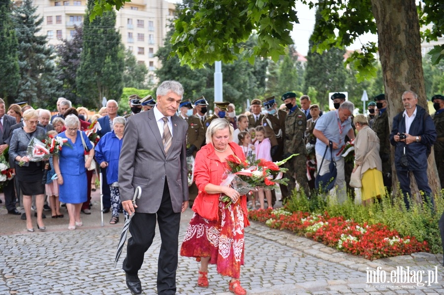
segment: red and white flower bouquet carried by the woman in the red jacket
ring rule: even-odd
[[[221,185],[229,185],[241,195],[246,195],[255,188],[272,190],[277,188],[278,184],[287,185],[288,179],[282,177],[288,169],[281,167],[281,165],[297,155],[291,155],[280,162],[265,161],[264,159],[254,160],[253,157],[248,157],[247,161],[243,161],[234,155],[229,155],[226,158],[228,169]],[[225,207],[231,204],[231,198],[228,196],[221,196],[221,200],[228,202]]]

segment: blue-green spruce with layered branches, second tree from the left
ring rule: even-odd
[[[38,34],[43,18],[35,14],[36,10],[32,0],[23,0],[14,9],[20,66],[16,99],[46,107],[54,104],[62,82],[57,79],[55,50],[47,44],[45,35]]]

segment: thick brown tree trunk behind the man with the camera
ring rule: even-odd
[[[419,20],[414,0],[371,0],[371,10],[378,31],[379,59],[381,61],[390,130],[393,117],[404,110],[401,96],[411,90],[418,94],[418,104],[428,110],[422,70]],[[392,163],[394,148],[392,147]],[[393,189],[398,187],[395,166],[392,165]],[[435,156],[428,158],[427,176],[434,195],[441,188]],[[413,179],[412,195],[418,189]],[[416,194],[415,194],[416,193]]]

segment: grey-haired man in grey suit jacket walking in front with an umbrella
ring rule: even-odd
[[[120,200],[131,220],[127,256],[123,261],[126,285],[141,294],[137,275],[154,238],[156,219],[162,246],[157,270],[157,294],[176,294],[179,224],[188,207],[186,133],[188,125],[176,116],[184,89],[165,81],[156,92],[157,104],[128,118],[119,159]],[[142,197],[132,205],[134,189]]]

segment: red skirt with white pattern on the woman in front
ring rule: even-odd
[[[232,278],[240,277],[244,264],[244,213],[239,202],[224,208],[219,202],[219,220],[208,220],[197,213],[186,229],[181,256],[210,257],[210,264],[217,264],[218,273]]]

